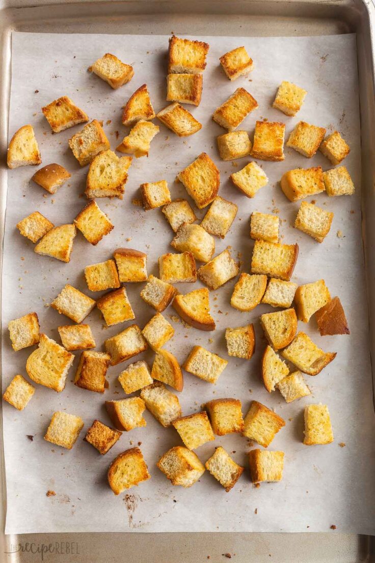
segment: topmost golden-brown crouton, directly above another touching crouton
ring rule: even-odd
[[[206,68],[209,44],[172,35],[169,39],[168,74],[201,74]]]

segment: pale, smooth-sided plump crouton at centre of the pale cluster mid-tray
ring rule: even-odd
[[[209,262],[215,252],[213,236],[201,225],[183,223],[170,245],[179,252],[191,252],[201,262]]]

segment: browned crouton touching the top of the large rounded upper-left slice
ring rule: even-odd
[[[75,158],[81,166],[87,166],[103,150],[110,149],[110,142],[102,127],[103,122],[94,119],[75,133],[68,142]]]

